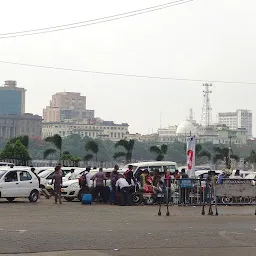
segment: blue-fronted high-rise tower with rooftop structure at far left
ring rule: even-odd
[[[24,88],[17,87],[17,82],[7,80],[0,86],[0,115],[23,115],[25,113]]]

